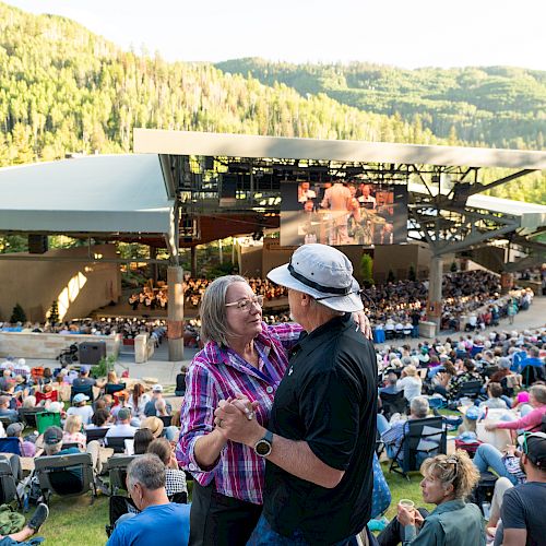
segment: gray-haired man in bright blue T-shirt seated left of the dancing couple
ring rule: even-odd
[[[131,461],[127,467],[127,490],[138,514],[123,514],[107,546],[149,546],[161,541],[169,546],[187,546],[189,505],[169,502],[165,490],[165,464],[153,453]]]

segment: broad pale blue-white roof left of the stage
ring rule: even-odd
[[[157,155],[97,155],[0,169],[0,230],[168,233]]]

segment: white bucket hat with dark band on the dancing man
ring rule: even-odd
[[[308,294],[335,311],[361,311],[360,286],[349,259],[328,245],[299,247],[290,263],[275,268],[268,277],[281,286]]]

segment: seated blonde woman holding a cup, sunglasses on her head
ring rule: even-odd
[[[380,546],[485,546],[482,512],[464,501],[479,479],[467,453],[427,459],[420,472],[423,500],[437,508],[429,513],[401,499],[396,518],[378,536]]]

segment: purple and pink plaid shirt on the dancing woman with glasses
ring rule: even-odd
[[[263,503],[265,461],[253,449],[228,441],[213,468],[201,468],[194,456],[195,441],[214,429],[214,411],[221,400],[244,394],[259,402],[256,418],[268,426],[273,397],[288,365],[288,352],[302,329],[283,323],[269,327],[254,339],[260,355],[258,370],[240,356],[210,342],[193,358],[186,379],[186,395],[180,414],[178,463],[202,486],[214,480],[216,490],[254,505]]]

